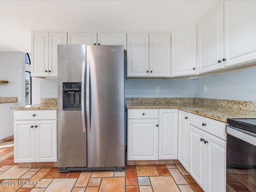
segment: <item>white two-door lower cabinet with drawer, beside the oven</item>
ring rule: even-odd
[[[206,120],[199,116],[199,121],[200,118]],[[206,130],[211,130],[216,120],[208,121],[204,127]],[[222,127],[215,127],[215,129],[221,130]],[[206,192],[226,191],[226,141],[220,137],[222,134],[216,137],[189,125],[189,173]]]

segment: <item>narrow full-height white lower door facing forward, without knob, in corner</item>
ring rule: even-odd
[[[159,159],[177,159],[178,110],[159,110]]]

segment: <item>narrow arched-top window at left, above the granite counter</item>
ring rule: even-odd
[[[31,105],[31,75],[30,75],[30,55],[25,53],[25,104]]]

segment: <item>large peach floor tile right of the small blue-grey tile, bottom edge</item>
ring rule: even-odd
[[[171,176],[149,178],[154,192],[180,192]]]

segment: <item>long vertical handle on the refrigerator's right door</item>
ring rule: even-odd
[[[90,133],[90,62],[86,62],[86,120],[87,132]]]

